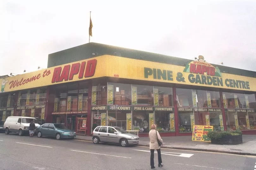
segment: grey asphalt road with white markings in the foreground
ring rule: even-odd
[[[150,169],[148,147],[123,148],[72,139],[29,138],[0,133],[0,170]],[[256,169],[256,156],[161,149],[164,167],[155,169]]]

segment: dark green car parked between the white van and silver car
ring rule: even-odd
[[[76,132],[67,129],[63,124],[45,123],[35,129],[35,133],[39,138],[42,136],[55,137],[57,140],[61,138],[75,138]]]

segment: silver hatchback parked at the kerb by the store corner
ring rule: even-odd
[[[117,143],[123,147],[139,143],[137,135],[127,133],[121,127],[97,126],[93,131],[93,143],[99,142]]]

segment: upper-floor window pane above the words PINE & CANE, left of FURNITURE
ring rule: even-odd
[[[144,105],[144,106],[152,106],[153,105],[153,102],[152,102],[153,86],[132,85],[132,87],[136,87],[136,89],[137,89],[137,105]]]

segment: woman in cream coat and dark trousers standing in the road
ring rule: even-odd
[[[162,158],[161,158],[161,150],[160,150],[160,146],[157,143],[157,138],[163,143],[163,140],[161,138],[161,136],[159,135],[159,132],[155,130],[156,129],[156,125],[152,125],[151,126],[151,130],[149,131],[149,139],[150,139],[150,143],[149,143],[149,149],[151,152],[150,155],[150,166],[151,169],[155,168],[154,166],[154,152],[155,149],[157,150],[157,155],[158,155],[158,167],[162,167]],[[156,138],[156,134],[157,134],[157,138]]]

